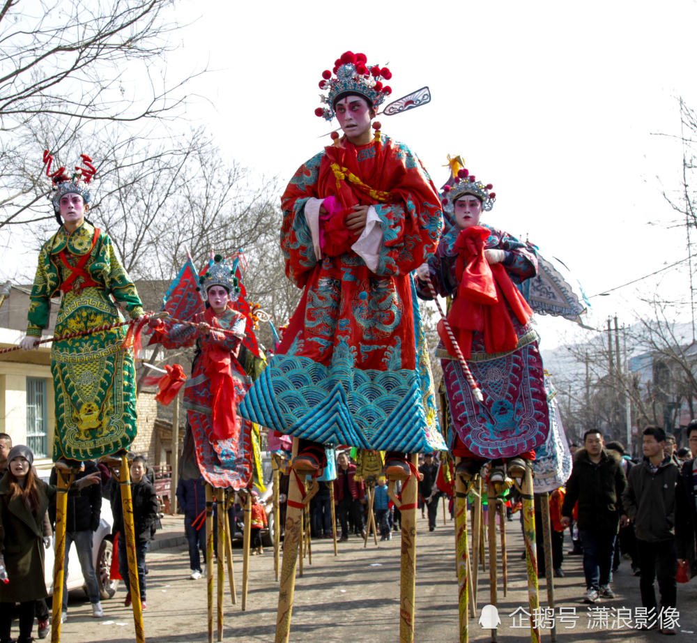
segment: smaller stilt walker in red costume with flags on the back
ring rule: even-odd
[[[247,490],[252,481],[252,423],[238,414],[250,378],[238,361],[249,319],[236,310],[240,285],[232,267],[216,255],[198,280],[191,259],[165,296],[186,324],[155,320],[153,342],[169,349],[195,346],[192,375],[186,382],[187,428],[182,460],[195,460],[206,481],[206,570],[208,641],[213,641],[213,501],[217,506],[217,640],[222,640],[222,598],[228,521],[224,490]],[[202,297],[203,296],[203,297]],[[205,303],[204,303],[205,302]],[[256,344],[255,344],[256,345]],[[195,454],[195,455],[194,455]],[[182,477],[190,474],[182,467]],[[251,493],[251,490],[247,490]],[[250,497],[251,498],[251,497]],[[229,552],[231,555],[231,552]],[[231,567],[229,567],[231,568]]]

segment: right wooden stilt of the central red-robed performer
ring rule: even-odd
[[[416,470],[418,454],[408,456],[411,470]],[[406,476],[405,476],[406,477]],[[395,494],[395,480],[390,480],[388,495],[401,511],[401,573],[399,585],[399,643],[413,643],[416,593],[416,505],[418,477],[411,474],[402,483],[401,501]]]

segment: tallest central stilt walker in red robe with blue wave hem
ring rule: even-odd
[[[295,438],[277,641],[289,637],[302,480],[323,468],[324,444],[388,451],[391,486],[404,480],[400,638],[413,640],[415,454],[444,443],[410,273],[436,249],[442,215],[421,162],[373,122],[391,76],[352,52],[323,72],[316,114],[337,116],[344,136],[305,162],[282,197],[286,275],[302,298],[240,407]]]

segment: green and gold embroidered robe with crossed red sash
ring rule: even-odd
[[[79,262],[85,255],[89,256],[81,269]],[[72,234],[61,226],[39,254],[27,335],[40,337],[48,325],[50,300],[66,282],[70,287],[62,289],[56,336],[123,321],[114,300],[133,319],[143,314],[135,286],[114,255],[109,236],[95,234],[87,222]],[[53,343],[54,461],[62,456],[91,460],[128,448],[135,438],[135,368],[132,352],[123,347],[125,334],[126,328],[119,326]]]

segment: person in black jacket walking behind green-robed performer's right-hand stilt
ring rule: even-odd
[[[140,587],[140,600],[143,609],[146,608],[145,600],[145,554],[151,539],[151,527],[158,518],[158,497],[155,487],[145,477],[147,470],[146,459],[137,455],[130,465],[131,497],[133,500],[133,524],[135,527],[135,555],[138,566],[138,584]],[[112,512],[114,513],[114,527],[112,533],[118,532],[118,573],[121,574],[126,586],[126,598],[123,605],[131,604],[131,593],[128,579],[128,558],[126,557],[125,532],[123,531],[123,510],[121,508],[120,485],[112,486]]]

